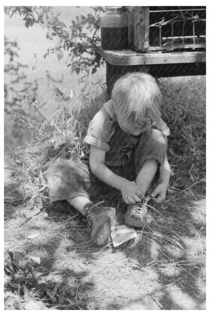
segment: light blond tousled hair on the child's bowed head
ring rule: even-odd
[[[119,119],[131,124],[151,126],[160,115],[162,95],[148,73],[132,72],[120,77],[112,90],[112,100]]]

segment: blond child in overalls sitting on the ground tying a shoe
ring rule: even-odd
[[[125,223],[142,228],[147,221],[141,202],[154,176],[159,180],[150,194],[161,203],[170,178],[167,137],[161,119],[161,92],[155,79],[141,72],[128,73],[115,83],[112,99],[89,123],[84,144],[88,161],[60,161],[48,168],[50,202],[67,200],[91,224],[96,245],[110,241],[115,209],[94,205],[90,198],[112,187],[128,205]]]

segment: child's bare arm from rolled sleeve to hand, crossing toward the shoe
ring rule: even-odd
[[[138,186],[134,182],[116,175],[105,166],[105,155],[105,150],[100,150],[90,145],[89,163],[92,174],[100,181],[121,190],[125,203],[134,204],[141,202],[141,198],[143,199],[144,197]]]

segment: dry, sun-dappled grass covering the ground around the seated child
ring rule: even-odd
[[[66,202],[48,203],[48,164],[84,154],[81,139],[102,99],[80,99],[79,110],[78,103],[61,106],[42,125],[40,142],[7,154],[5,250],[41,263],[6,270],[6,309],[205,309],[204,80],[161,80],[173,175],[166,201],[150,204],[153,221],[136,241],[96,247],[84,217]],[[94,199],[102,200],[122,224],[119,192]]]

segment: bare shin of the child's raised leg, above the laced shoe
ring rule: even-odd
[[[156,171],[158,170],[159,163],[156,160],[146,160],[141,167],[137,177],[136,184],[141,190],[142,194],[145,195],[152,179],[155,176]]]

